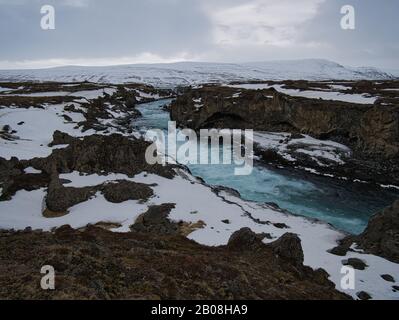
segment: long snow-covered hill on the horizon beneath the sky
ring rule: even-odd
[[[376,68],[345,67],[328,60],[289,60],[252,63],[178,62],[108,67],[67,66],[35,70],[0,70],[0,81],[91,81],[146,83],[160,87],[248,80],[390,79]]]

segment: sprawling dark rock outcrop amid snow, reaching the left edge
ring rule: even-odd
[[[145,150],[149,143],[144,140],[118,134],[74,138],[56,131],[52,145],[57,144],[68,146],[53,150],[46,158],[23,161],[17,158],[0,158],[0,201],[10,200],[19,190],[47,188],[43,215],[59,217],[67,214],[72,206],[87,201],[96,192],[101,192],[106,200],[114,203],[127,200],[146,201],[153,195],[151,186],[128,180],[82,188],[64,186],[65,181],[59,179],[60,173],[79,171],[104,175],[113,172],[132,177],[145,171],[166,178],[173,178],[175,175],[172,166],[147,164]],[[26,173],[25,168],[30,166],[38,170],[38,173]]]

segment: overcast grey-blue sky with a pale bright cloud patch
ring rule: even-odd
[[[42,30],[42,5],[55,30]],[[356,29],[342,30],[352,5]],[[398,0],[0,0],[0,68],[324,58],[399,69]]]

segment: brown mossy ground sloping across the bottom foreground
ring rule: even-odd
[[[42,290],[43,265],[55,290]],[[321,271],[257,245],[206,247],[179,235],[89,226],[0,232],[0,299],[347,299]]]

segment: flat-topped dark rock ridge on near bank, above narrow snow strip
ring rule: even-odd
[[[79,171],[88,174],[124,173],[134,176],[143,171],[173,178],[172,166],[150,165],[146,162],[145,152],[150,143],[136,138],[127,138],[119,134],[109,136],[91,135],[82,139],[57,133],[57,141],[68,141],[63,149],[53,150],[47,158],[34,158],[29,165],[48,174],[54,171],[69,173]]]

